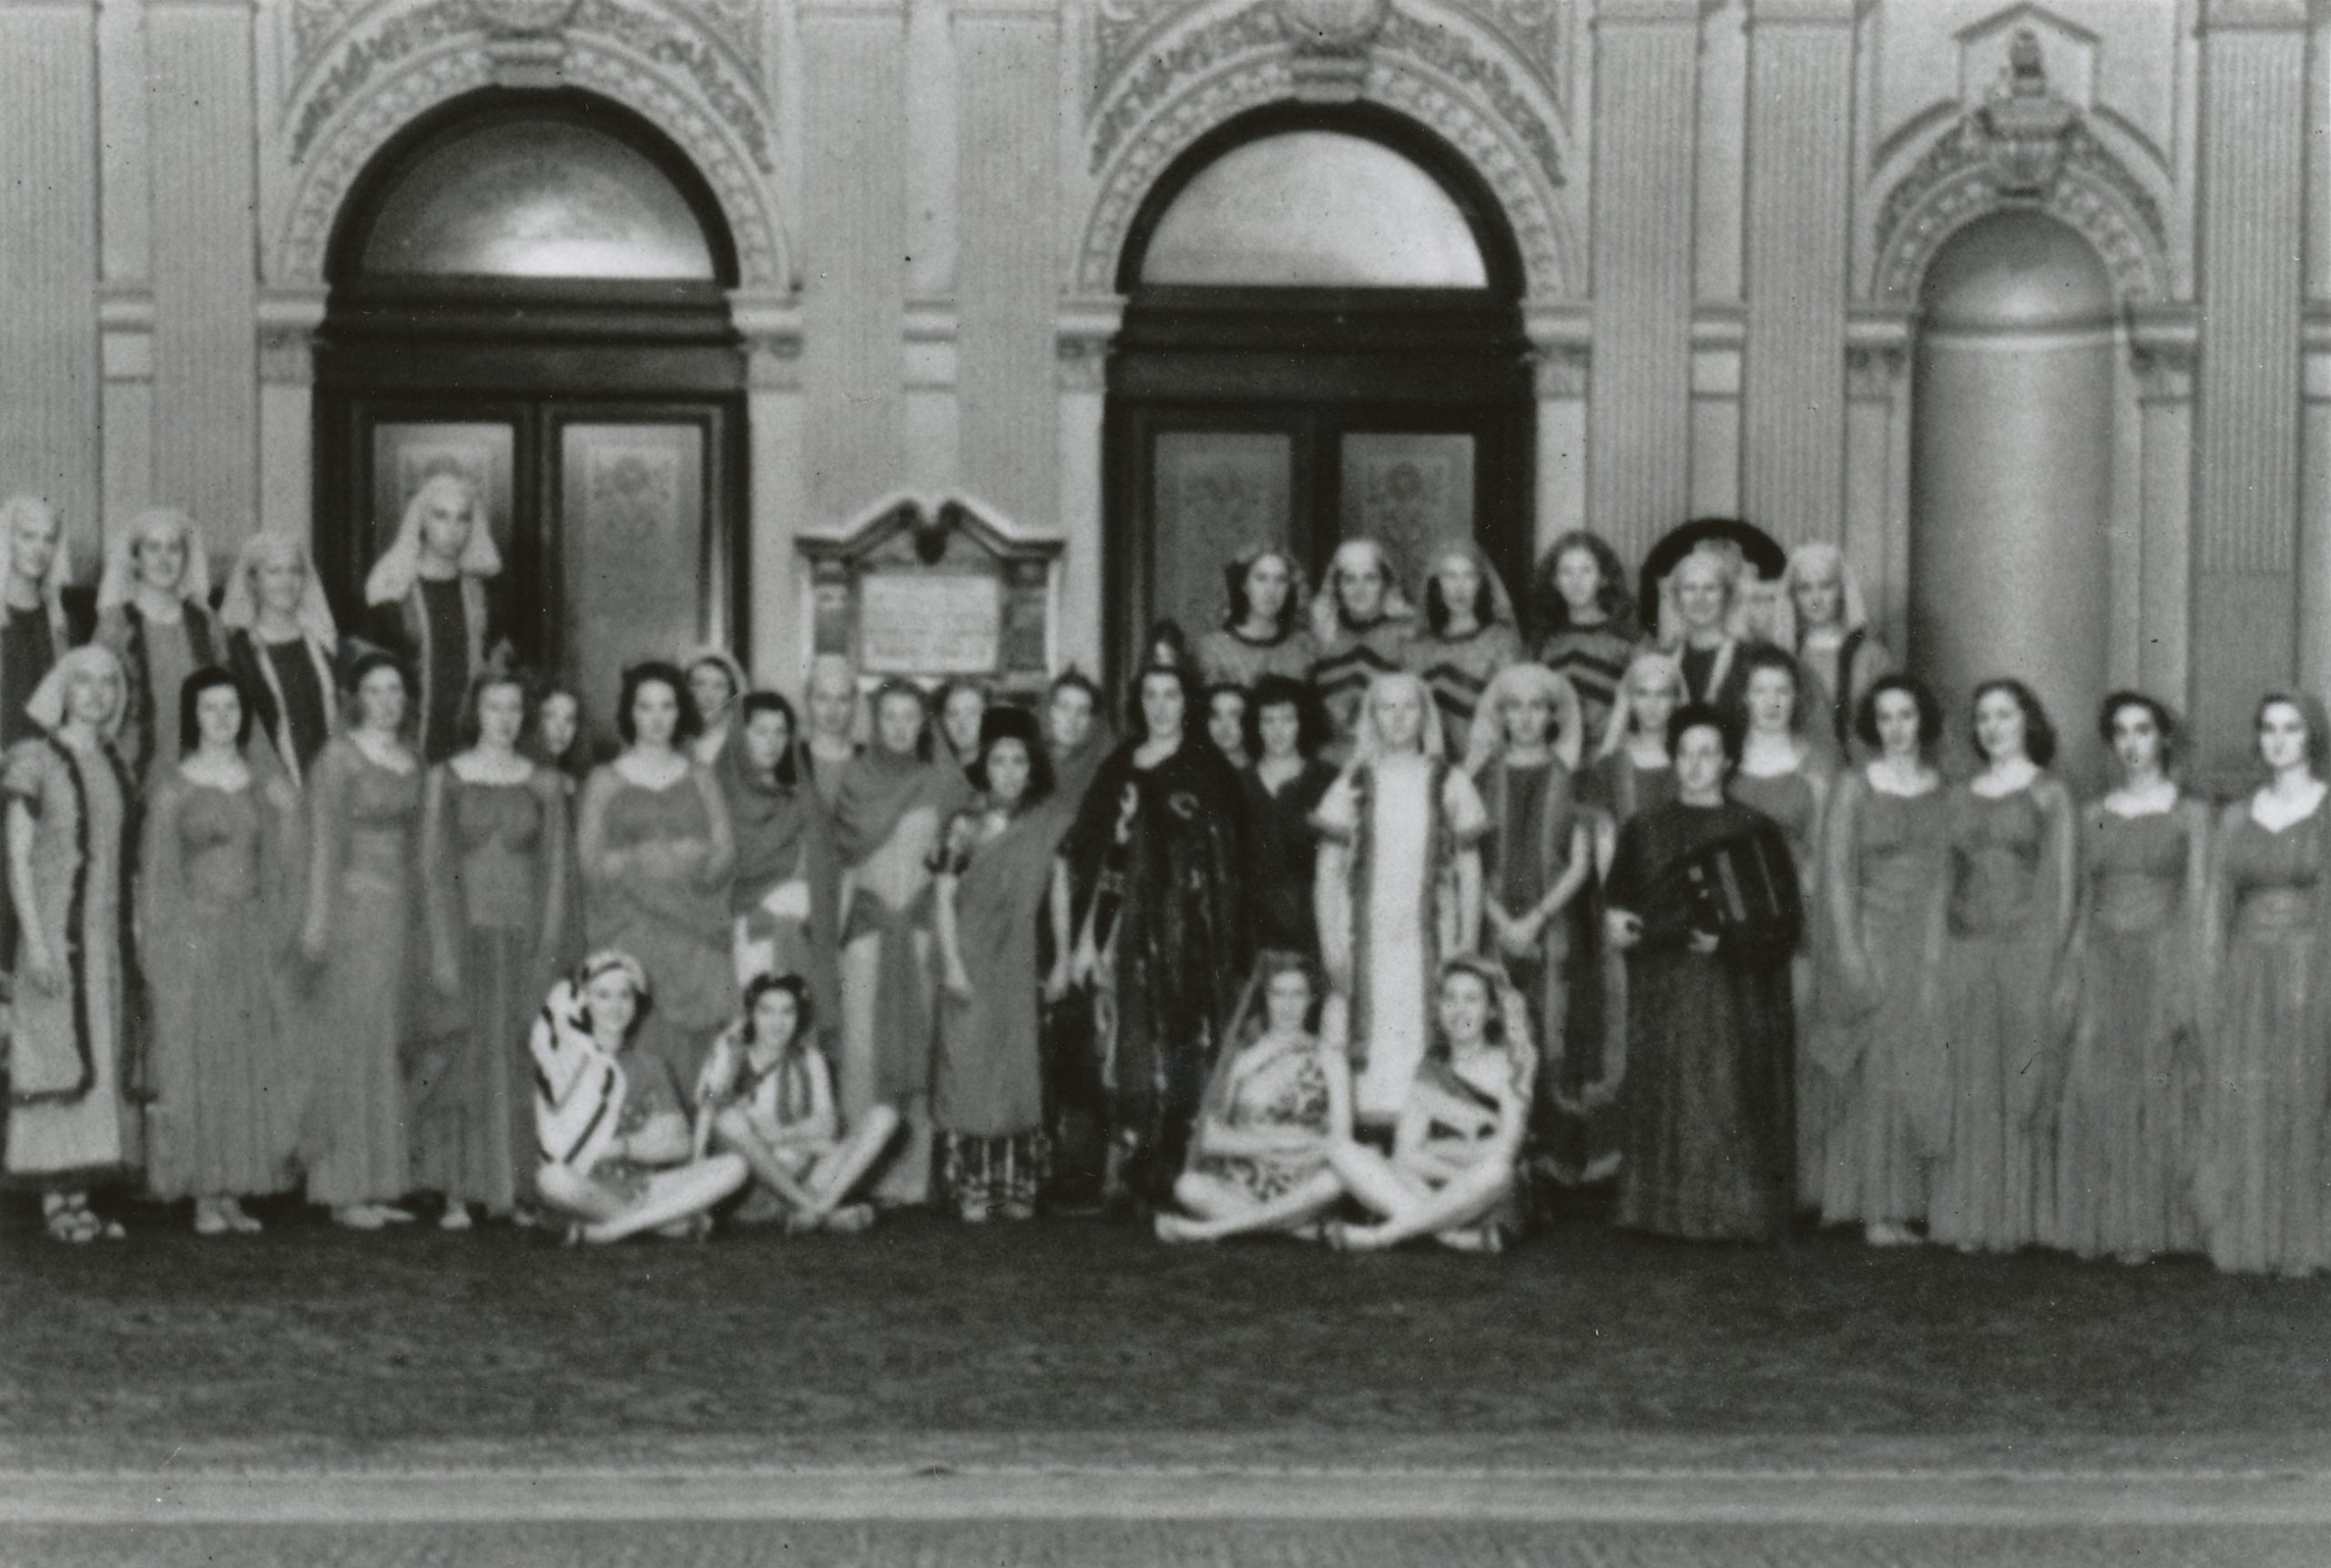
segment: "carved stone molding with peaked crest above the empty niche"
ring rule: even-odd
[[[2096,247],[2124,301],[2170,294],[2161,205],[2047,82],[2040,42],[2016,33],[1981,105],[1953,121],[1886,193],[1872,294],[1911,301],[1942,242],[1986,212],[2044,212]]]

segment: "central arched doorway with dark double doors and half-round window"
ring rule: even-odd
[[[1478,172],[1373,105],[1256,110],[1142,203],[1110,361],[1110,652],[1224,615],[1270,538],[1317,580],[1375,534],[1415,571],[1473,534],[1527,596],[1522,261]]]

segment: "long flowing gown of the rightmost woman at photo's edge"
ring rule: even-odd
[[[2331,1267],[2331,801],[2277,829],[2226,808],[2196,1205],[2231,1272]]]

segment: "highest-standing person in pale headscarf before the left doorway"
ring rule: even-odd
[[[508,662],[487,578],[501,552],[485,503],[457,473],[413,492],[396,538],[364,578],[366,636],[413,671],[413,725],[424,762],[462,748],[462,699],[490,664]]]

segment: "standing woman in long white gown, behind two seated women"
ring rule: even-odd
[[[1350,1037],[1352,1114],[1389,1128],[1431,1044],[1431,976],[1480,946],[1480,794],[1441,750],[1431,694],[1378,676],[1319,811],[1319,951]],[[1336,1025],[1329,1025],[1336,1032]]]

